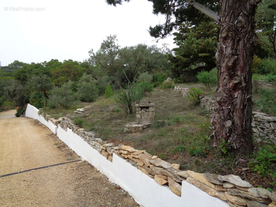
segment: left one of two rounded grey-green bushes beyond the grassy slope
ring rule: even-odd
[[[48,106],[50,108],[66,108],[68,109],[76,101],[77,94],[72,90],[72,81],[62,84],[60,87],[55,86],[49,92]]]

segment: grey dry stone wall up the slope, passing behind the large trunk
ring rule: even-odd
[[[183,96],[187,96],[189,88],[179,86],[174,87],[175,91],[180,91]],[[212,112],[215,108],[215,99],[207,96],[200,96],[200,105],[205,107],[206,110]],[[261,137],[272,141],[276,144],[276,117],[269,116],[266,113],[252,112],[252,129],[253,135],[257,141],[262,141]]]

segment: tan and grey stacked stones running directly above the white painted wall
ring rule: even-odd
[[[142,173],[154,179],[158,184],[168,185],[169,189],[178,196],[181,196],[182,181],[186,180],[210,196],[227,201],[230,207],[276,206],[276,192],[271,193],[266,189],[255,188],[249,182],[243,181],[239,176],[202,174],[190,170],[182,171],[179,164],[168,163],[145,150],[136,150],[131,146],[122,144],[115,146],[113,143],[107,143],[100,139],[99,134],[96,132],[87,132],[79,128],[67,117],[49,120],[65,131],[70,128],[110,162],[112,162],[113,153],[115,153]]]

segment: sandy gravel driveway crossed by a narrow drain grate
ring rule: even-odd
[[[0,119],[0,175],[77,159],[37,120]],[[79,161],[1,177],[0,206],[139,205],[89,163]]]

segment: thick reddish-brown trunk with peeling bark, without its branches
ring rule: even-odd
[[[211,115],[214,147],[229,142],[234,154],[252,152],[251,63],[255,41],[256,4],[249,0],[221,0],[216,110]]]

